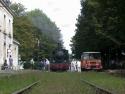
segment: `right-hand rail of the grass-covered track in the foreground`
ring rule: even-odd
[[[91,86],[91,87],[93,88],[93,90],[95,90],[95,94],[116,94],[116,93],[111,92],[111,91],[109,91],[109,90],[107,90],[107,89],[104,89],[104,88],[102,88],[102,87],[99,87],[99,86],[97,86],[97,85],[95,85],[95,84],[93,84],[93,83],[90,83],[90,82],[88,82],[88,81],[86,81],[86,80],[81,80],[81,81],[82,81],[83,83],[85,83],[85,84]]]

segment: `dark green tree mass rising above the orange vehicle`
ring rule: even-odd
[[[82,9],[72,39],[76,58],[83,51],[106,51],[124,45],[124,4],[121,0],[81,0]]]

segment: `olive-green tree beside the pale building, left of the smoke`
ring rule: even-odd
[[[37,45],[35,28],[26,16],[15,17],[14,19],[14,37],[20,43],[20,55],[23,60],[29,60],[32,57],[34,47]],[[31,40],[32,39],[32,40]]]

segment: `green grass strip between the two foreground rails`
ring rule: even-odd
[[[44,72],[41,82],[29,94],[94,94],[80,81],[79,73]]]

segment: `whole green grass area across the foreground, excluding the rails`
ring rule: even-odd
[[[125,78],[103,72],[39,71],[0,77],[0,94],[11,94],[37,80],[40,80],[39,84],[34,86],[29,94],[96,94],[91,86],[81,81],[82,79],[116,94],[125,94]]]

